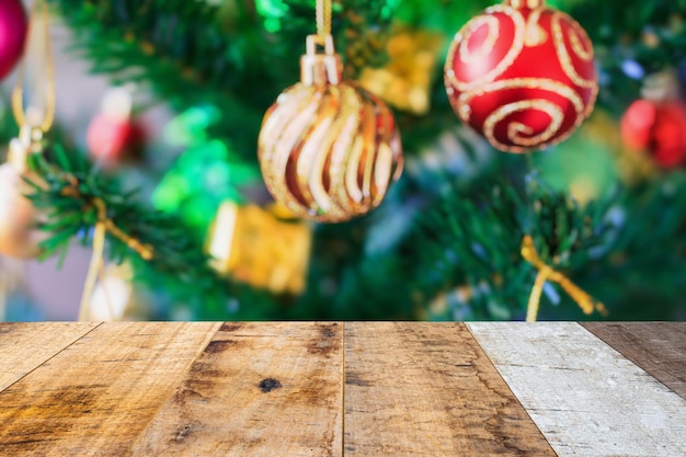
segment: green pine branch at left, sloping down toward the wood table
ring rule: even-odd
[[[136,202],[135,193],[123,193],[115,182],[94,173],[84,160],[68,158],[60,146],[45,153],[48,159],[31,158],[31,169],[39,181],[28,181],[33,187],[28,198],[47,217],[42,229],[49,238],[42,243],[42,258],[56,253],[64,258],[72,239],[90,245],[93,228],[99,222],[99,201],[106,207],[106,218],[118,231],[139,244],[151,247],[153,252],[150,259],[141,256],[132,249],[130,242],[108,230],[106,256],[116,263],[132,262],[137,281],[156,292],[163,285],[160,293],[175,304],[191,307],[195,319],[241,319],[253,316],[255,309],[264,315],[266,309],[273,308],[267,293],[250,290],[211,270],[202,244],[190,237],[178,217]],[[253,299],[251,308],[243,308],[245,294]]]

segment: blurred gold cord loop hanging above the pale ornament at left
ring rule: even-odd
[[[28,49],[28,37],[32,36],[37,21],[43,22],[43,33],[45,34],[45,113],[43,119],[32,127],[38,127],[43,132],[47,132],[55,119],[55,68],[53,64],[53,52],[49,38],[49,21],[47,5],[43,0],[35,0],[31,12],[31,21],[28,24],[28,33],[26,34],[26,44],[24,45],[24,57],[19,66],[16,75],[16,83],[12,91],[12,112],[16,124],[20,127],[28,125],[26,113],[24,111],[24,73],[26,66],[26,49]]]

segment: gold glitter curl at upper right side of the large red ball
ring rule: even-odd
[[[593,47],[590,46],[590,50],[585,50],[581,43],[579,42],[579,36],[585,43],[591,43],[586,32],[575,21],[569,19],[568,15],[562,14],[560,12],[554,12],[550,20],[552,24],[552,39],[554,42],[554,49],[558,55],[558,59],[560,60],[560,65],[562,66],[562,70],[564,75],[572,80],[572,82],[580,88],[592,89],[597,88],[597,81],[595,79],[585,79],[574,68],[572,64],[572,58],[570,56],[569,49],[567,47],[567,43],[564,41],[564,33],[562,32],[562,21],[567,21],[570,27],[570,36],[572,43],[572,50],[575,56],[581,60],[591,61],[593,59]]]

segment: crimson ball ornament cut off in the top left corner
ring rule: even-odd
[[[0,0],[0,79],[8,76],[24,50],[26,13],[20,0]]]

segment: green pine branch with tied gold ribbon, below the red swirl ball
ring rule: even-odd
[[[403,267],[411,269],[421,301],[462,288],[462,297],[453,298],[453,308],[444,309],[457,312],[451,318],[521,319],[536,274],[519,251],[528,233],[545,263],[591,294],[605,293],[596,298],[607,304],[611,318],[615,304],[626,304],[630,296],[618,287],[608,294],[609,277],[650,275],[660,277],[673,297],[685,290],[681,272],[686,244],[677,241],[684,238],[686,221],[686,198],[679,192],[684,185],[682,176],[666,186],[668,194],[658,185],[642,195],[614,195],[582,208],[534,176],[524,194],[512,183],[488,182],[469,197],[446,193],[423,210],[399,256],[405,260]],[[632,205],[620,219],[617,212],[624,202]],[[666,214],[665,207],[671,208]],[[554,289],[547,289],[548,305],[561,301],[564,308],[552,316],[582,319],[573,301]],[[626,309],[618,312],[627,316]]]

